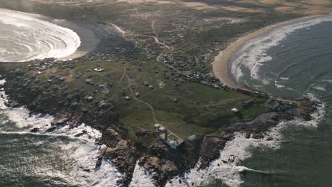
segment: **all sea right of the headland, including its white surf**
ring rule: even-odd
[[[238,84],[322,105],[313,120],[280,123],[262,140],[236,133],[211,166],[197,164],[167,186],[332,186],[332,16],[272,30],[246,43],[231,63]]]

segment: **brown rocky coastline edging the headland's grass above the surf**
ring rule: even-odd
[[[158,185],[165,186],[168,180],[189,171],[198,161],[201,163],[200,169],[209,166],[211,161],[220,156],[220,150],[223,149],[226,142],[233,139],[234,132],[244,132],[246,137],[262,139],[264,132],[281,121],[295,118],[311,120],[311,113],[321,105],[309,98],[304,98],[296,101],[297,106],[294,108],[264,113],[250,122],[243,121],[227,125],[214,135],[198,135],[193,142],[186,142],[177,149],[171,149],[157,137],[155,132],[143,128],[136,130],[138,140],[130,140],[128,130],[119,124],[118,115],[107,112],[104,108],[99,107],[98,103],[94,108],[83,108],[82,111],[76,111],[74,106],[57,108],[54,105],[59,98],[52,94],[52,91],[48,91],[47,85],[40,85],[38,81],[35,81],[36,79],[22,79],[20,71],[4,72],[4,74],[6,74],[4,90],[9,96],[7,105],[11,107],[26,106],[31,113],[53,115],[55,120],[47,132],[52,132],[61,125],[74,127],[82,123],[102,132],[101,140],[97,140],[100,145],[106,145],[101,150],[101,158],[111,159],[119,171],[125,174],[123,180],[118,181],[119,186],[130,184],[137,161],[153,174],[153,179]],[[31,129],[31,132],[39,132],[39,130]],[[84,132],[82,132],[83,134]],[[99,164],[101,163],[97,162],[96,167]]]

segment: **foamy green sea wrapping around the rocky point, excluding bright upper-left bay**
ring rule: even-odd
[[[332,186],[331,21],[326,16],[273,30],[248,42],[233,58],[239,84],[321,101],[314,120],[280,123],[262,140],[238,132],[211,166],[199,170],[198,163],[166,186]],[[0,186],[117,186],[122,179],[106,159],[94,169],[100,132],[81,124],[31,133],[32,128],[43,132],[50,127],[52,116],[29,115],[25,108],[7,108],[4,101],[6,96],[0,98]],[[89,135],[74,136],[82,130]],[[140,166],[133,176],[130,186],[155,186]]]

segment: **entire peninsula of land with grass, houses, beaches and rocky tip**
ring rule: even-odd
[[[0,8],[42,15],[82,43],[72,56],[0,63],[7,105],[54,116],[46,132],[99,130],[96,168],[114,163],[118,186],[129,186],[136,163],[165,186],[198,162],[208,167],[235,132],[263,139],[282,120],[310,120],[319,105],[239,86],[228,62],[259,35],[329,13],[330,1],[26,2]]]

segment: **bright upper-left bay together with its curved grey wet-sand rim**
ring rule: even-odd
[[[0,62],[74,59],[92,52],[101,41],[87,23],[7,9],[0,9],[0,15]]]

